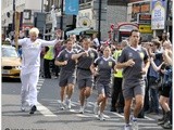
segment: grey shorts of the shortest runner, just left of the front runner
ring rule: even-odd
[[[104,93],[107,98],[111,96],[111,84],[110,83],[97,83],[98,94]]]

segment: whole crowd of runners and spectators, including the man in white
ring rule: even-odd
[[[141,40],[140,32],[134,29],[121,43],[103,44],[99,44],[96,37],[83,37],[77,41],[76,36],[71,35],[63,40],[60,29],[52,41],[38,39],[38,34],[37,28],[32,28],[29,38],[18,40],[23,52],[22,110],[26,105],[30,106],[29,114],[37,110],[39,73],[51,78],[51,62],[61,87],[62,110],[71,108],[71,98],[77,86],[79,113],[84,114],[95,84],[98,98],[94,101],[94,113],[100,120],[105,120],[103,112],[108,98],[111,98],[111,112],[124,113],[124,130],[138,130],[137,118],[150,113],[159,115],[159,106],[163,117],[158,125],[172,128],[172,43],[166,34],[163,34],[162,41],[148,41]],[[40,65],[44,65],[41,69]]]

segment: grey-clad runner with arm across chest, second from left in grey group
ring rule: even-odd
[[[79,88],[79,113],[84,113],[87,98],[91,93],[92,87],[92,74],[90,72],[90,65],[98,57],[98,53],[95,49],[90,48],[91,40],[89,38],[83,39],[83,49],[78,54],[73,54],[72,58],[77,60],[77,86]]]

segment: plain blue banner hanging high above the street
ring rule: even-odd
[[[78,0],[65,0],[65,14],[78,15]]]

